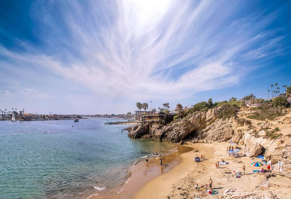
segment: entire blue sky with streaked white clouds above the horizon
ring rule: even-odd
[[[291,84],[290,1],[0,1],[0,109],[122,114]],[[150,103],[152,101],[152,103]]]

